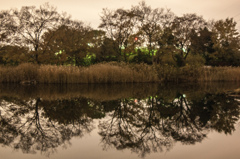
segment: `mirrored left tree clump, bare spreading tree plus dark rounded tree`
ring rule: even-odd
[[[72,137],[93,130],[92,119],[102,114],[89,106],[86,99],[2,100],[0,142],[24,153],[41,151],[50,155],[58,146],[67,146]]]

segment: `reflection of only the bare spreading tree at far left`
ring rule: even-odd
[[[91,131],[90,121],[75,120],[75,124],[62,124],[51,119],[40,107],[41,100],[20,101],[4,99],[1,102],[1,138],[3,145],[21,149],[24,153],[55,151],[59,145],[68,144],[73,136],[81,136],[84,130]],[[91,119],[90,119],[91,120]]]

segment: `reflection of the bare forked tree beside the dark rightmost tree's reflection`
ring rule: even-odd
[[[206,128],[199,121],[198,115],[192,113],[193,105],[184,94],[178,93],[171,103],[163,103],[162,106],[171,109],[172,114],[164,120],[165,131],[170,132],[175,141],[195,144],[206,137]]]

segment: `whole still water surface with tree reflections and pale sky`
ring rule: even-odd
[[[1,159],[238,159],[239,87],[0,85]]]

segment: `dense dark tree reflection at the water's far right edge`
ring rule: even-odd
[[[193,101],[194,112],[199,114],[200,121],[206,127],[231,134],[239,120],[239,103],[228,94],[206,94],[200,101]]]

